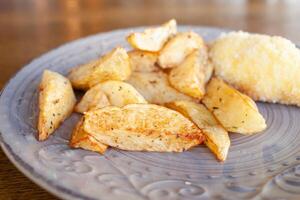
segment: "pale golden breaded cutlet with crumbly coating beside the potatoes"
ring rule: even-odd
[[[300,50],[289,40],[231,32],[210,56],[216,75],[254,100],[300,106]]]

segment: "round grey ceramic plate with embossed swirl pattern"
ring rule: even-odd
[[[206,40],[222,30],[194,30]],[[261,134],[231,134],[227,161],[204,146],[184,153],[126,152],[104,156],[68,147],[74,114],[45,142],[36,135],[37,86],[42,71],[66,74],[116,45],[128,45],[126,29],[80,39],[25,66],[0,98],[1,146],[31,180],[64,199],[300,199],[300,109],[258,103],[268,128]],[[223,30],[224,31],[224,30]]]

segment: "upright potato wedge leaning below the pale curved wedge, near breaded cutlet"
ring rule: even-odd
[[[169,82],[178,91],[201,99],[211,74],[212,65],[208,64],[206,51],[195,50],[181,64],[172,68]]]

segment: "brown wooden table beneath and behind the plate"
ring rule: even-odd
[[[159,24],[219,26],[276,34],[300,44],[300,1],[1,0],[0,87],[50,49],[98,32]],[[22,175],[0,150],[0,199],[56,199]]]

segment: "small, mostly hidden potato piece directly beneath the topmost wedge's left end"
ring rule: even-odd
[[[133,50],[128,52],[132,71],[157,72],[160,71],[156,65],[157,53]]]

